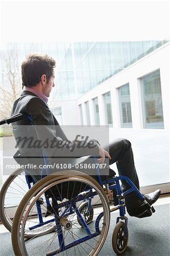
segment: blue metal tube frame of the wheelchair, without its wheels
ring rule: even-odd
[[[14,115],[13,117],[3,119],[0,122],[0,125],[2,125],[3,123],[8,123],[9,124],[11,122],[16,122],[16,121],[18,121],[19,119],[22,119],[22,118],[28,118],[31,121],[31,117],[29,115],[19,113],[17,115]],[[96,157],[93,156],[93,158],[94,158],[94,163],[97,163]],[[44,152],[43,152],[43,160],[44,160],[44,165],[47,166],[48,162],[47,162],[47,158],[45,157]],[[27,181],[27,184],[28,184],[28,188],[30,189],[31,188],[31,183],[34,185],[35,181],[32,178],[30,180],[30,175],[27,174],[27,171],[25,171],[25,173],[26,173],[26,181]],[[132,181],[126,176],[114,176],[113,179],[109,179],[106,182],[106,181],[101,180],[101,175],[99,173],[99,168],[98,167],[96,167],[96,174],[97,174],[98,183],[101,185],[101,187],[103,185],[111,184],[111,185],[109,185],[109,189],[110,190],[113,190],[113,189],[117,190],[117,198],[118,198],[118,203],[119,204],[116,207],[114,207],[113,210],[111,210],[111,212],[113,212],[114,210],[119,209],[119,215],[120,216],[117,217],[117,223],[119,222],[119,220],[124,220],[125,221],[125,224],[126,224],[125,237],[126,237],[127,217],[125,217],[125,214],[126,214],[125,207],[126,206],[125,206],[125,203],[124,203],[123,199],[125,198],[126,195],[128,195],[131,192],[135,192],[139,196],[139,199],[142,200],[142,201],[145,200],[144,196],[139,192],[138,188],[136,188],[134,183],[132,183]],[[41,170],[41,179],[43,179],[43,177],[46,176],[46,175],[48,175],[48,168],[42,168],[42,170]],[[122,192],[121,185],[119,183],[119,181],[121,181],[121,180],[125,180],[130,185],[131,188],[128,189],[127,191],[125,191],[125,192]],[[92,199],[97,194],[97,192],[93,192],[92,189],[87,189],[85,191],[88,191],[88,213],[89,213],[91,205],[92,205]],[[60,203],[60,204],[58,204],[57,201],[53,200],[53,198],[52,198],[52,203],[53,203],[52,205],[53,205],[53,208],[55,208],[55,214],[54,214],[55,217],[52,218],[51,220],[48,220],[48,221],[43,221],[42,209],[41,209],[41,206],[40,206],[41,204],[40,204],[39,200],[36,201],[36,208],[37,208],[38,217],[39,217],[39,224],[35,225],[35,226],[31,226],[29,229],[33,230],[33,229],[39,228],[40,226],[43,226],[43,225],[48,224],[49,222],[53,222],[53,221],[55,221],[55,223],[56,223],[56,231],[57,231],[58,238],[59,238],[60,248],[47,253],[48,256],[52,256],[52,255],[56,255],[58,253],[61,253],[64,250],[67,250],[67,249],[69,249],[69,248],[71,248],[75,245],[78,245],[81,242],[90,240],[91,238],[96,237],[100,234],[99,221],[103,217],[103,212],[101,212],[99,214],[99,216],[97,217],[96,224],[95,224],[96,232],[92,234],[90,232],[90,229],[88,228],[88,225],[86,224],[84,218],[82,217],[80,211],[76,207],[76,202],[77,201],[81,201],[81,200],[86,201],[87,200],[87,199],[85,199],[85,197],[86,197],[85,195],[81,195],[81,193],[80,193],[80,194],[78,194],[78,196],[73,197],[73,199],[71,199],[71,200],[69,200],[65,203]],[[77,198],[78,198],[78,200],[77,200]],[[46,200],[47,207],[49,205],[51,205],[49,203],[49,199],[47,197],[45,197],[45,200]],[[68,212],[68,208],[66,208],[66,206],[69,207],[69,212]],[[59,213],[59,208],[61,208],[61,207],[64,208],[64,209],[61,210],[61,212]],[[76,212],[77,217],[79,218],[82,227],[85,229],[86,236],[82,237],[82,238],[80,238],[80,239],[78,239],[74,242],[71,242],[68,245],[65,245],[64,244],[63,232],[62,232],[62,228],[61,228],[61,225],[60,225],[60,218],[61,217],[62,218],[67,217],[67,216],[73,214],[74,212]]]

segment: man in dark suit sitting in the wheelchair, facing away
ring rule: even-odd
[[[78,150],[78,156],[87,156],[87,155],[96,155],[97,163],[105,163],[106,159],[109,159],[109,164],[116,163],[119,175],[127,176],[139,189],[139,180],[136,173],[134,158],[131,148],[131,143],[127,139],[117,139],[109,145],[108,148],[102,148],[99,143],[93,140],[93,147],[90,147],[90,142],[86,142],[86,147],[80,147],[80,141],[73,141],[71,145],[68,146],[68,139],[61,129],[59,123],[54,117],[53,113],[47,105],[49,94],[54,84],[54,73],[55,60],[48,55],[29,55],[26,60],[22,63],[22,85],[23,92],[21,96],[14,102],[13,110],[11,115],[18,113],[25,113],[28,115],[30,120],[27,118],[14,122],[13,130],[15,138],[18,138],[19,134],[34,134],[35,131],[32,131],[32,125],[37,129],[38,139],[44,139],[45,137],[49,138],[49,141],[55,138],[56,142],[60,144],[57,150],[49,150],[47,152],[47,141],[43,144],[43,150],[45,154],[47,152],[49,162],[55,162],[54,156],[60,156],[62,159],[63,156],[69,156],[69,158],[75,158]],[[27,130],[24,127],[28,127]],[[41,135],[42,138],[41,138]],[[35,136],[35,135],[34,135]],[[34,137],[33,136],[33,137]],[[92,142],[92,141],[91,141]],[[29,142],[27,142],[29,143]],[[26,143],[26,144],[27,144]],[[78,147],[79,145],[79,147]],[[19,146],[19,144],[18,144]],[[71,148],[76,148],[74,152]],[[23,148],[19,148],[22,155],[26,152]],[[109,151],[109,152],[108,152]],[[38,156],[39,162],[41,161],[41,152],[33,152],[30,150],[30,158],[32,155]],[[32,155],[31,155],[32,154]],[[62,160],[61,160],[62,162]],[[63,163],[65,162],[65,158]],[[31,173],[30,173],[31,174]],[[114,171],[109,171],[109,177],[114,176]],[[33,174],[36,180],[40,179],[40,176]],[[123,191],[129,189],[129,184],[126,181],[122,181]],[[148,195],[144,195],[148,204],[152,205],[160,196],[160,190],[157,189],[155,192],[152,192]],[[115,198],[115,204],[117,204],[117,199]],[[147,217],[146,212],[141,212],[142,201],[139,200],[138,195],[135,192],[129,193],[125,196],[126,208],[130,216],[135,217]]]

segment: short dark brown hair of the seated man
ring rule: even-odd
[[[46,75],[48,81],[53,75],[55,64],[55,60],[47,54],[28,55],[21,65],[22,85],[35,86],[41,81],[42,75]]]

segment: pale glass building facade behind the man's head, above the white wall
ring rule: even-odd
[[[1,84],[6,83],[7,56],[15,57],[15,72],[20,73],[25,55],[47,53],[57,61],[53,99],[78,98],[168,41],[9,43],[2,46]]]

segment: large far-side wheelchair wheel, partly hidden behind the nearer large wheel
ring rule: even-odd
[[[20,201],[28,192],[28,185],[23,169],[11,174],[1,188],[0,218],[3,225],[11,232],[13,218]]]

